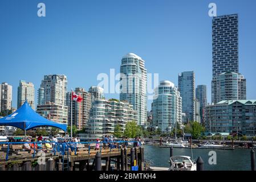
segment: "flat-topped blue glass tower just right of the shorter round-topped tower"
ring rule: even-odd
[[[189,121],[195,121],[194,102],[195,102],[195,88],[194,88],[194,72],[182,72],[178,75],[178,90],[182,97],[182,113],[185,113]]]

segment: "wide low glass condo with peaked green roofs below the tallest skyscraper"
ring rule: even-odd
[[[206,131],[254,137],[256,100],[226,100],[206,106]]]

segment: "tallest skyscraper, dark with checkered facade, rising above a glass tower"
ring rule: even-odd
[[[213,28],[213,77],[238,73],[238,14],[216,16]]]

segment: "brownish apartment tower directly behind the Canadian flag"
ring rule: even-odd
[[[75,88],[74,92],[82,97],[82,102],[72,101],[72,125],[75,125],[78,130],[86,127],[90,116],[91,109],[91,93],[86,92],[83,88]],[[71,123],[71,92],[68,93],[68,125]]]

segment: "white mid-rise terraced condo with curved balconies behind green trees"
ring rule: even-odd
[[[86,134],[90,138],[113,135],[116,125],[120,125],[124,132],[125,125],[131,121],[137,122],[137,112],[127,101],[95,100],[90,110]]]

